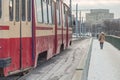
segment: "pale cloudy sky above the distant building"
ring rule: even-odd
[[[68,5],[69,1],[64,0]],[[76,10],[77,3],[79,10],[109,9],[110,13],[114,13],[114,18],[120,18],[120,0],[72,0],[72,10]],[[73,14],[75,14],[75,11],[73,11]]]

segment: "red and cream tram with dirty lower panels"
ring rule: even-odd
[[[36,67],[67,48],[69,11],[62,0],[0,0],[0,74]]]

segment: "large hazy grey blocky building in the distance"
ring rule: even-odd
[[[114,19],[114,13],[110,13],[109,9],[91,9],[90,13],[86,13],[86,23],[91,26],[102,24],[106,19]]]

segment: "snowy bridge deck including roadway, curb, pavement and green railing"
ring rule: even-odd
[[[17,80],[119,80],[119,41],[119,37],[106,36],[100,49],[97,38],[77,37],[67,50]]]

